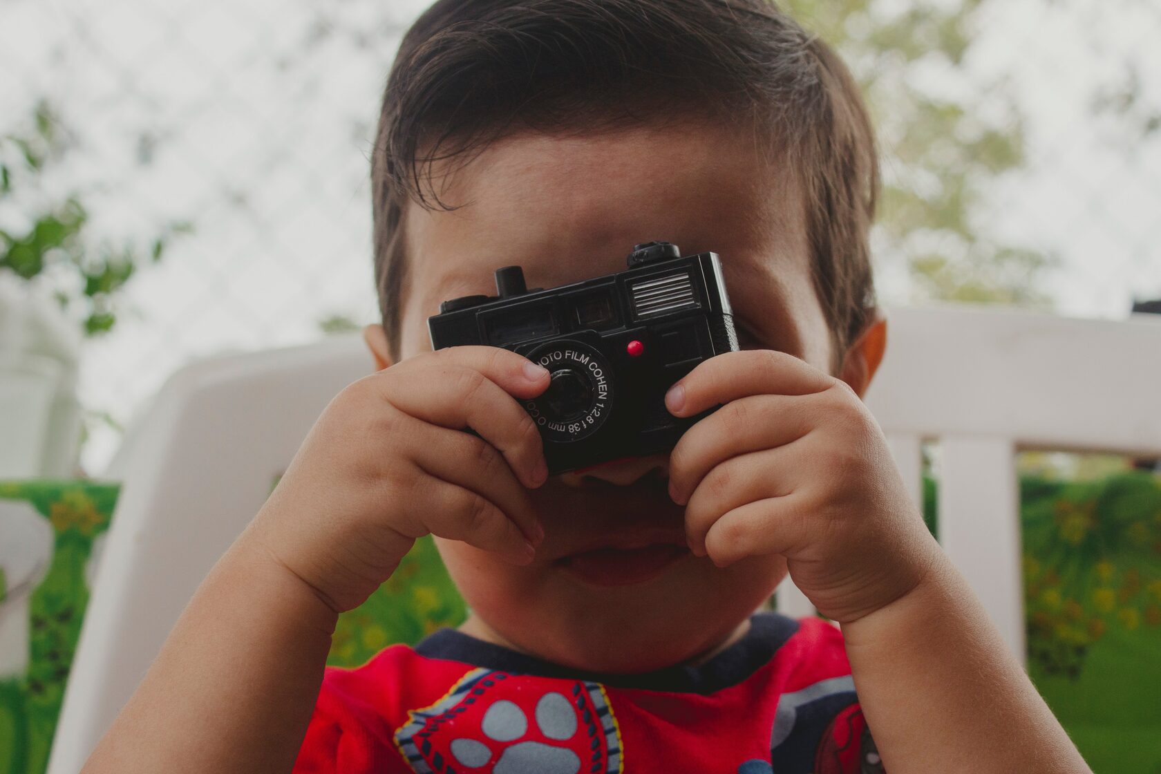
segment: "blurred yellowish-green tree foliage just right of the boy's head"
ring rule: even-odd
[[[966,94],[922,86],[922,74],[962,77],[980,10],[998,1],[779,5],[838,49],[868,101],[884,168],[880,259],[906,263],[920,301],[1046,308],[1041,277],[1055,258],[1003,244],[975,220],[988,185],[1024,164],[1017,106],[1002,81],[974,81]]]

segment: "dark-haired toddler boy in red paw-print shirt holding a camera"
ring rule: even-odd
[[[437,2],[373,161],[376,372],[86,771],[1088,771],[859,399],[877,185],[846,68],[763,0]],[[650,239],[721,255],[742,350],[666,406],[723,407],[670,454],[549,477],[520,405],[548,372],[431,352],[426,318],[499,266],[553,288]],[[469,619],[324,673],[336,616],[426,534]],[[753,613],[787,572],[841,631]]]

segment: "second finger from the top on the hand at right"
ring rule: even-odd
[[[699,420],[669,456],[669,494],[682,505],[715,465],[806,436],[819,407],[810,396],[755,395],[730,400]]]

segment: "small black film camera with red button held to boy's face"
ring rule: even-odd
[[[496,272],[496,296],[464,296],[427,318],[432,348],[511,349],[551,374],[524,407],[549,473],[673,448],[693,422],[665,408],[666,390],[701,361],[736,350],[715,253],[683,258],[664,241],[637,245],[628,269],[543,290],[524,272]]]

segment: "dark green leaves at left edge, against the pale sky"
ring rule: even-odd
[[[44,101],[30,121],[0,135],[0,207],[15,214],[5,222],[19,224],[0,227],[0,272],[48,284],[85,334],[98,335],[116,323],[116,295],[137,267],[161,260],[192,226],[170,223],[145,244],[93,238],[84,194],[58,194],[46,182],[71,149],[70,132]]]

